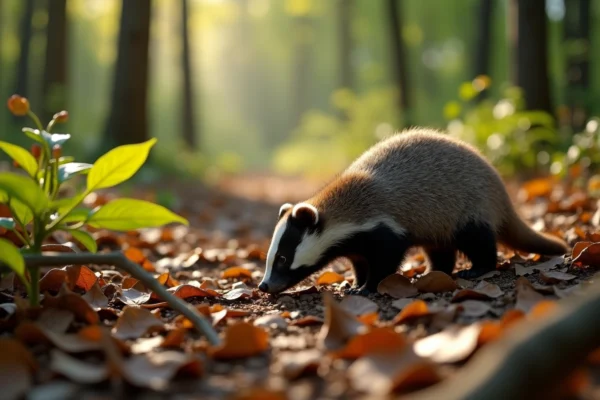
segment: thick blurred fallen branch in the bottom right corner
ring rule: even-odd
[[[600,282],[535,321],[515,325],[452,378],[407,396],[424,399],[547,398],[600,347]]]

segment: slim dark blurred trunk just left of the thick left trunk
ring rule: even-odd
[[[46,38],[42,116],[49,121],[67,106],[67,0],[48,3]]]

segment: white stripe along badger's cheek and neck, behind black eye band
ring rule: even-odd
[[[340,223],[331,227],[325,227],[321,234],[305,234],[300,245],[296,248],[294,262],[290,269],[298,269],[303,265],[313,266],[321,256],[332,246],[359,232],[370,231],[377,225],[384,223],[395,233],[402,235],[406,232],[391,218],[377,218],[362,225],[352,223]]]

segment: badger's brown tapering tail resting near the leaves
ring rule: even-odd
[[[534,231],[514,209],[509,210],[507,214],[498,238],[503,244],[515,250],[535,254],[559,255],[568,252],[569,247],[563,240]]]

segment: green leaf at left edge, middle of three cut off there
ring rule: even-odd
[[[48,206],[46,193],[31,179],[12,173],[0,173],[0,191],[26,205],[34,215],[41,215]]]

